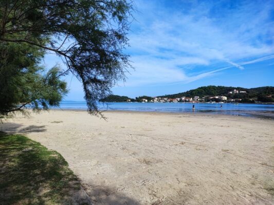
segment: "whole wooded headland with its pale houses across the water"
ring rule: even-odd
[[[135,98],[108,95],[100,99],[112,103],[274,103],[274,87],[240,88],[225,86],[205,86],[186,92]]]

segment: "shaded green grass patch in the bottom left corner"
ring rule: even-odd
[[[80,188],[58,152],[22,135],[0,133],[1,204],[70,204]]]

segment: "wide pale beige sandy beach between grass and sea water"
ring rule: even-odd
[[[56,150],[94,204],[274,204],[274,120],[50,111],[10,119]]]

